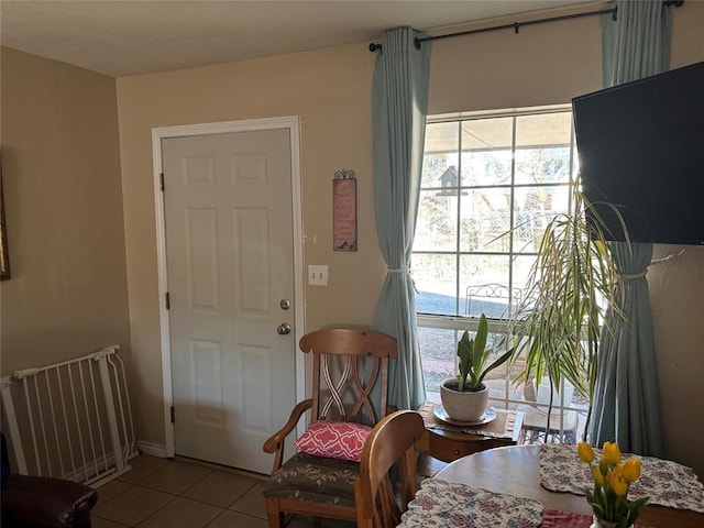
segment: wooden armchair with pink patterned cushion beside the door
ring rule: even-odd
[[[300,339],[312,355],[311,397],[300,402],[286,425],[264,443],[274,453],[265,483],[270,528],[283,528],[290,515],[354,520],[354,481],[364,441],[388,407],[388,360],[396,340],[351,329],[317,330]],[[309,411],[298,452],[284,463],[287,437]]]

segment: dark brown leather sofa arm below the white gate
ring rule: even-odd
[[[84,484],[11,474],[2,488],[2,525],[90,528],[90,508],[97,502],[98,492]]]

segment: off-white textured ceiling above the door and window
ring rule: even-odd
[[[113,77],[348,43],[585,0],[0,0],[0,43]],[[520,20],[516,20],[520,21]]]

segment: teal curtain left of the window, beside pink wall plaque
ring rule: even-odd
[[[416,230],[428,112],[430,43],[418,50],[410,28],[386,31],[376,57],[372,95],[374,210],[387,265],[372,327],[398,341],[389,376],[389,404],[415,409],[426,400],[410,250]]]

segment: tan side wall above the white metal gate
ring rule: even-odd
[[[8,48],[1,65],[2,375],[114,343],[129,359],[114,79]]]

